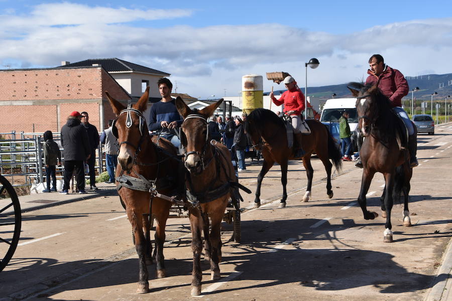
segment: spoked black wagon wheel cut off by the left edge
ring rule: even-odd
[[[13,207],[14,215],[3,213]],[[0,176],[0,271],[13,257],[21,234],[21,206],[13,186]]]

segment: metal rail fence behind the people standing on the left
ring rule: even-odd
[[[7,177],[13,186],[27,186],[33,182],[41,183],[45,179],[43,162],[44,133],[16,133],[11,131],[0,133],[0,173]],[[61,135],[53,133],[53,140],[61,148]],[[102,158],[103,144],[97,147],[95,169],[100,175],[105,170],[105,159]],[[64,156],[64,153],[62,152]],[[63,157],[64,159],[64,157]],[[63,178],[63,167],[56,167],[56,177]],[[89,176],[85,175],[86,179]]]

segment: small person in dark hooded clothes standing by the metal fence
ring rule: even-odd
[[[46,166],[47,189],[42,192],[56,191],[56,166],[61,164],[61,152],[58,144],[53,140],[53,133],[50,130],[44,132],[43,157]],[[52,180],[52,189],[50,189]]]

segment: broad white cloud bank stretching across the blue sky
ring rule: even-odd
[[[0,61],[22,62],[17,68],[118,57],[171,73],[179,90],[195,97],[224,95],[224,88],[235,95],[242,75],[250,73],[264,76],[266,90],[272,82],[265,72],[271,71],[290,72],[304,86],[304,62],[311,57],[320,66],[308,70],[308,86],[361,80],[374,53],[406,75],[448,73],[452,67],[452,18],[392,23],[349,35],[281,24],[152,28],[152,22],[135,23],[193,14],[72,3],[38,5],[27,16],[11,11],[0,16]]]

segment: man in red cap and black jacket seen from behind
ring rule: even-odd
[[[68,194],[69,181],[75,170],[75,179],[80,194],[85,192],[84,162],[91,157],[88,133],[80,124],[80,113],[73,111],[61,128],[61,146],[64,157],[64,186],[61,194]]]

